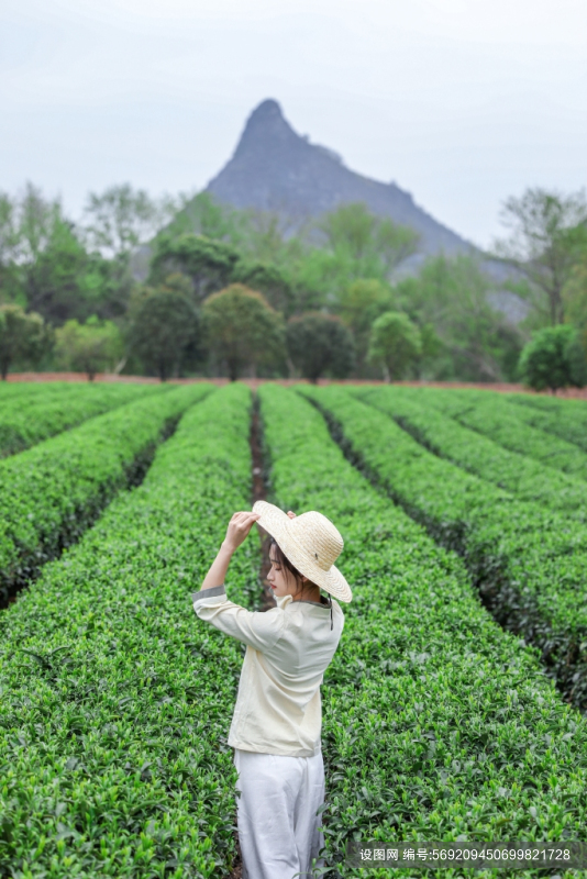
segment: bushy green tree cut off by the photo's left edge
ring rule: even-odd
[[[20,305],[0,305],[0,375],[5,381],[14,363],[35,365],[52,345],[51,329],[35,312],[26,313]]]

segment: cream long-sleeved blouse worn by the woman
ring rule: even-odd
[[[292,601],[248,611],[224,586],[192,596],[200,617],[246,644],[229,745],[261,754],[312,757],[321,752],[320,685],[339,645],[344,613],[337,601]]]

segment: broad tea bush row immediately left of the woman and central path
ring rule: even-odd
[[[200,588],[250,509],[251,392],[192,407],[143,483],[113,500],[1,617],[0,864],[19,879],[208,879],[235,853],[225,743],[241,645]],[[226,588],[258,589],[258,539]]]

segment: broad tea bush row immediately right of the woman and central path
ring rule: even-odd
[[[353,589],[322,686],[329,850],[585,838],[585,720],[487,614],[461,559],[344,459],[319,412],[292,390],[258,393],[274,500],[334,522]]]

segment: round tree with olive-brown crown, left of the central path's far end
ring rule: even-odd
[[[243,369],[277,365],[284,357],[284,320],[265,297],[242,283],[231,283],[203,303],[208,344],[225,361],[235,381]]]

